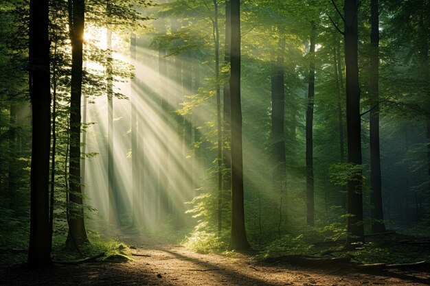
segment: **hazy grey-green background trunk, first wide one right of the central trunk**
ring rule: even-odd
[[[281,235],[283,218],[283,198],[285,191],[285,88],[284,88],[284,50],[285,38],[279,40],[276,53],[273,55],[272,75],[271,75],[271,99],[272,99],[272,130],[271,139],[273,141],[273,187],[279,194],[279,223],[278,235]]]

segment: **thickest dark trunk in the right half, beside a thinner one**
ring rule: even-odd
[[[346,125],[348,130],[348,162],[361,167],[361,117],[358,63],[358,1],[346,0],[345,10],[345,63],[346,63]],[[347,248],[364,241],[363,183],[361,171],[354,172],[348,181],[348,237]]]

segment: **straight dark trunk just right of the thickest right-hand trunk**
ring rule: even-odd
[[[385,232],[379,150],[379,1],[370,1],[370,184],[372,192],[372,233]]]

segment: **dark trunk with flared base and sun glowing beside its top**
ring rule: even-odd
[[[84,39],[84,0],[71,2],[71,97],[69,161],[69,234],[67,248],[88,242],[80,187],[80,104],[82,95],[82,44]]]

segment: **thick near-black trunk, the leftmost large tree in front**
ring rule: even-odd
[[[49,1],[30,1],[29,88],[32,100],[32,163],[30,171],[30,266],[51,264],[49,232],[49,151],[51,93],[49,75]]]

